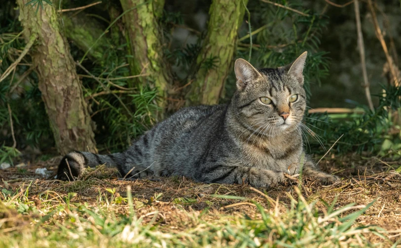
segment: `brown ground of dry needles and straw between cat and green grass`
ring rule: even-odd
[[[73,202],[86,202],[91,205],[96,204],[99,201],[99,195],[107,193],[108,188],[115,188],[116,195],[125,197],[127,185],[129,185],[132,196],[136,200],[136,206],[141,206],[137,210],[138,215],[143,216],[145,221],[150,221],[154,218],[153,213],[157,211],[159,215],[157,218],[160,219],[162,228],[170,231],[185,230],[188,228],[188,223],[196,221],[191,216],[202,214],[205,209],[209,210],[209,214],[203,219],[210,221],[219,218],[222,213],[259,216],[255,205],[250,202],[221,199],[215,195],[246,197],[260,203],[266,209],[288,207],[291,204],[290,196],[298,197],[293,190],[293,185],[298,182],[290,178],[282,185],[266,191],[269,197],[278,200],[277,206],[273,206],[271,202],[266,201],[262,193],[256,192],[257,190],[245,184],[205,184],[185,177],[119,180],[114,170],[104,166],[87,172],[79,180],[67,183],[52,179],[53,176],[43,178],[35,174],[37,168],[46,168],[54,173],[59,159],[60,157],[54,157],[45,162],[29,164],[22,169],[10,168],[1,171],[0,188],[8,188],[11,191],[19,189],[20,192],[14,196],[18,197],[25,193],[24,190],[32,181],[28,194],[34,201],[37,195],[45,191],[50,192],[49,194],[54,196],[54,199],[56,195],[65,196],[69,192],[76,192]],[[313,178],[304,178],[302,195],[308,202],[318,200],[316,206],[320,211],[325,211],[322,200],[330,204],[336,197],[338,199],[334,209],[350,203],[367,205],[375,201],[365,214],[357,219],[357,222],[365,226],[381,227],[382,234],[395,242],[401,238],[401,175],[395,171],[400,167],[400,163],[400,161],[385,161],[377,157],[332,156],[322,160],[321,167],[324,171],[334,173],[343,179],[333,185],[322,186]],[[157,197],[159,193],[162,193],[162,196]],[[183,209],[173,203],[180,203]],[[58,202],[54,200],[54,204]],[[121,212],[124,211],[126,209],[122,208]],[[370,233],[365,235],[373,243],[383,242],[377,235]]]

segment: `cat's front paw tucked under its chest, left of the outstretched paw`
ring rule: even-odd
[[[277,186],[284,180],[282,172],[274,172],[269,170],[252,169],[249,183],[257,188],[271,188]]]

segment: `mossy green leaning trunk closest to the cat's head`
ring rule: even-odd
[[[244,3],[248,0],[213,0],[208,34],[196,61],[198,71],[186,95],[188,105],[219,103],[244,18]]]

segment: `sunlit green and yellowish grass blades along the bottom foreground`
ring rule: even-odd
[[[194,214],[183,207],[193,199],[176,198],[170,204],[190,216],[190,221],[170,225],[164,223],[163,213],[157,210],[141,216],[139,213],[143,208],[152,208],[161,194],[144,204],[130,193],[123,198],[115,189],[108,189],[108,193],[99,192],[96,203],[88,204],[75,202],[76,193],[65,197],[43,193],[39,208],[27,197],[11,201],[9,196],[4,203],[20,213],[11,218],[25,224],[0,230],[0,247],[373,247],[364,234],[374,232],[381,236],[378,228],[355,223],[373,203],[349,204],[334,210],[335,199],[324,203],[326,211],[322,213],[316,207],[317,201],[308,204],[298,188],[294,191],[297,199],[290,197],[288,207],[277,204],[268,209],[262,207],[267,202],[215,195],[255,204],[255,216],[212,213],[209,208]],[[10,211],[1,209],[3,213]],[[0,228],[4,223],[7,222],[0,220]],[[180,225],[187,229],[173,228]]]

